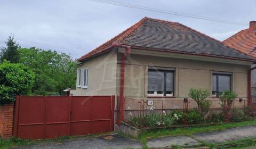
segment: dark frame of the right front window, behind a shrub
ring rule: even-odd
[[[216,94],[213,94],[213,84],[212,84],[212,97],[219,97],[219,76],[228,76],[229,77],[229,88],[232,91],[232,73],[230,72],[213,72],[212,73],[212,83],[213,75],[216,75]]]

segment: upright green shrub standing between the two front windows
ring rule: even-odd
[[[197,103],[198,109],[200,109],[201,111],[201,115],[205,118],[212,105],[211,101],[205,100],[205,98],[210,95],[209,90],[201,89],[201,88],[199,89],[190,88],[188,95],[190,98],[195,100],[195,102]]]

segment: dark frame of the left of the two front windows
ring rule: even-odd
[[[147,90],[147,96],[164,96],[164,97],[173,97],[174,96],[174,86],[175,86],[175,70],[174,69],[159,69],[159,68],[149,68],[148,69],[148,72],[149,71],[157,71],[157,72],[164,72],[164,90],[163,90],[163,94],[157,94],[157,91],[154,91],[154,94],[151,94],[151,93],[148,93],[149,91]],[[172,94],[166,94],[166,72],[172,72],[173,73],[173,91],[172,91]],[[149,77],[149,76],[148,76]]]

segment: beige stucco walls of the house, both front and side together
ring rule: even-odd
[[[111,51],[93,59],[85,61],[77,67],[88,68],[88,88],[72,90],[73,95],[116,95],[119,96],[120,70],[122,53]],[[155,98],[147,96],[149,67],[175,68],[174,97]],[[238,94],[234,105],[242,107],[247,104],[247,70],[249,65],[207,62],[201,60],[177,59],[173,57],[159,57],[140,54],[130,54],[125,61],[124,96],[134,100],[168,101],[166,106],[172,109],[182,108],[183,99],[188,98],[190,107],[196,103],[188,97],[190,88],[204,88],[212,90],[212,72],[232,72],[231,88]],[[83,78],[83,77],[82,77]],[[83,80],[82,80],[83,82]],[[243,102],[238,102],[242,98]],[[216,97],[208,97],[213,107],[219,107]],[[136,104],[138,106],[138,104]]]

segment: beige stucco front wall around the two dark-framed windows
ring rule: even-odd
[[[121,67],[122,54],[117,54],[117,95],[119,95],[119,70]],[[124,96],[136,100],[170,100],[175,108],[183,107],[183,98],[189,98],[190,88],[204,88],[212,90],[212,72],[232,72],[231,88],[238,94],[234,105],[242,107],[247,104],[247,70],[249,65],[206,62],[199,60],[175,59],[149,55],[131,54],[127,57],[125,65],[125,88]],[[147,97],[147,73],[148,67],[175,68],[174,97],[154,98]],[[243,98],[243,102],[238,102]],[[209,97],[212,106],[219,107],[219,98]],[[190,107],[196,107],[196,103],[189,98]],[[174,108],[174,109],[175,109]]]

